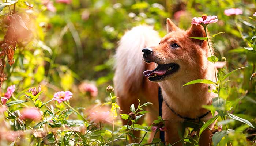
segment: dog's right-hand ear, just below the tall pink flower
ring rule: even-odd
[[[203,26],[193,24],[188,30],[189,37],[206,37]],[[199,39],[192,39],[193,42],[197,43],[200,46],[207,45],[206,41]]]

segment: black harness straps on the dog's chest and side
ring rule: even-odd
[[[162,117],[162,105],[163,105],[163,101],[165,101],[163,99],[163,95],[162,95],[162,89],[161,87],[158,88],[158,103],[159,103],[159,116]],[[170,105],[165,101],[165,104],[167,105],[167,107],[169,107],[169,109],[178,117],[184,119],[184,120],[188,120],[188,121],[195,121],[195,120],[199,120],[204,118],[206,115],[208,115],[211,111],[207,111],[205,114],[203,114],[202,116],[199,116],[197,118],[189,118],[189,117],[185,117],[185,116],[181,116],[180,114],[176,113],[171,107]],[[165,141],[165,132],[164,131],[160,131],[160,139],[162,142]]]

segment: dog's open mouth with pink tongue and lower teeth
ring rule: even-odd
[[[154,70],[146,70],[143,72],[145,77],[148,77],[150,81],[162,80],[166,76],[177,72],[179,65],[175,63],[171,64],[159,64]]]

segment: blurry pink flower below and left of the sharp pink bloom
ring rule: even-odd
[[[35,120],[35,119],[42,119],[42,115],[36,108],[24,108],[21,112],[21,119],[30,119],[30,120]]]

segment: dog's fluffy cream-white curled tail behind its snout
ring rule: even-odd
[[[118,95],[138,92],[143,84],[142,49],[159,43],[158,32],[150,26],[137,26],[121,38],[115,55],[114,86]]]

